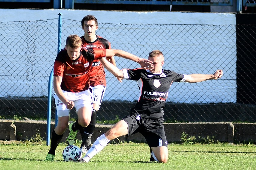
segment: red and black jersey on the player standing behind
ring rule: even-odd
[[[100,36],[97,36],[97,39],[93,42],[86,41],[84,39],[84,36],[81,37],[81,40],[82,40],[82,47],[111,49],[110,42],[108,42],[108,40]],[[102,65],[102,63],[98,59],[93,60],[92,68],[90,72],[90,86],[96,86],[96,85],[107,86],[105,76],[106,74],[105,74],[104,66]]]

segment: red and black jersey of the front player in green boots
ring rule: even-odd
[[[89,88],[89,73],[93,60],[106,56],[105,49],[81,48],[80,56],[71,60],[67,50],[59,51],[54,66],[53,75],[61,76],[61,89],[67,92],[81,92]]]

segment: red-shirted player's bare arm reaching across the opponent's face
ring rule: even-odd
[[[153,62],[145,59],[145,58],[139,58],[131,53],[128,53],[123,50],[117,50],[117,49],[106,49],[106,57],[111,56],[118,56],[122,58],[126,58],[132,61],[135,61],[141,65],[143,69],[154,69]]]

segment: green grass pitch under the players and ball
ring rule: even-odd
[[[167,163],[150,163],[147,144],[109,144],[89,163],[64,162],[59,145],[55,161],[44,161],[49,146],[0,145],[0,167],[5,169],[256,169],[255,145],[169,144]]]

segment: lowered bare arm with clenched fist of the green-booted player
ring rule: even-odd
[[[53,76],[53,90],[56,93],[56,95],[59,97],[59,99],[67,106],[67,108],[71,110],[75,106],[74,101],[69,101],[65,97],[60,87],[61,82],[62,82],[62,77]]]

